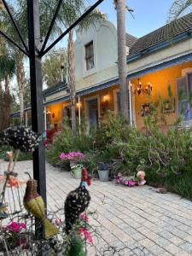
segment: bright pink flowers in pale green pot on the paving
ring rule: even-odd
[[[83,165],[81,162],[84,160],[85,156],[81,152],[69,152],[68,154],[61,153],[61,160],[69,160],[72,176],[75,178],[81,178],[81,170]]]

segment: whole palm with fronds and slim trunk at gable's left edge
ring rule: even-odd
[[[61,6],[61,13],[59,20],[61,24],[66,28],[71,26],[75,20],[78,20],[80,15],[87,9],[87,1],[84,0],[73,0],[66,1]],[[90,26],[96,24],[98,20],[105,20],[106,15],[103,15],[97,9],[88,15],[79,24],[79,30],[87,30]],[[77,28],[77,27],[76,27]],[[72,110],[72,131],[73,135],[76,135],[76,114],[75,114],[75,55],[74,55],[74,41],[73,41],[74,30],[71,30],[68,34],[68,86],[70,90],[71,98],[71,110]]]

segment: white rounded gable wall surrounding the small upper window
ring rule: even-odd
[[[86,70],[85,45],[93,42],[95,67]],[[86,32],[77,32],[75,42],[76,90],[118,78],[117,30],[109,21],[98,22]]]

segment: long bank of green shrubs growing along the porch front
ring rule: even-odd
[[[159,128],[166,120],[163,107],[167,100],[172,102],[169,89],[168,96],[166,100],[159,96],[157,102],[151,102],[152,113],[145,118],[145,132],[137,131],[112,113],[109,124],[101,125],[90,135],[73,137],[70,129],[64,129],[47,152],[49,162],[60,162],[61,152],[81,151],[86,156],[83,165],[89,172],[96,170],[99,162],[112,162],[113,175],[121,172],[132,176],[143,170],[148,183],[192,199],[192,129],[178,130],[176,125],[165,133]]]

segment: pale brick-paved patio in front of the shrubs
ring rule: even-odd
[[[15,171],[20,176],[32,172],[32,161],[17,163]],[[69,172],[47,164],[49,210],[63,207],[67,193],[78,185],[79,180]],[[148,186],[127,188],[112,182],[93,181],[89,190],[89,209],[97,211],[91,224],[98,226],[100,233],[95,239],[98,250],[109,244],[117,248],[144,247],[144,253],[136,249],[134,255],[192,255],[191,201],[171,193],[156,193]],[[90,248],[88,255],[95,254],[95,248]],[[121,255],[128,256],[128,250]]]

